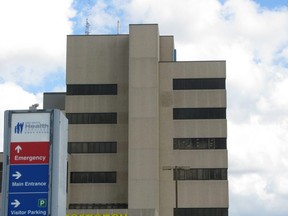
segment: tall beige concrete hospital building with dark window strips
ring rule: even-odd
[[[68,215],[227,216],[225,61],[175,60],[158,25],[67,38]]]

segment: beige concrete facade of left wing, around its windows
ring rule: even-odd
[[[67,85],[118,85],[118,94],[115,96],[66,96],[66,113],[117,112],[117,124],[69,126],[69,142],[117,141],[117,154],[71,154],[69,173],[117,170],[117,183],[69,183],[68,209],[71,203],[128,202],[128,42],[126,35],[68,36]]]

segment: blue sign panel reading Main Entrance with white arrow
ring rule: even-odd
[[[9,193],[48,192],[49,165],[11,165]]]

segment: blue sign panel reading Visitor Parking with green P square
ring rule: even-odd
[[[8,216],[13,215],[48,215],[48,193],[10,194]]]

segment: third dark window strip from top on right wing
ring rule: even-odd
[[[173,149],[226,149],[226,138],[174,138]]]

